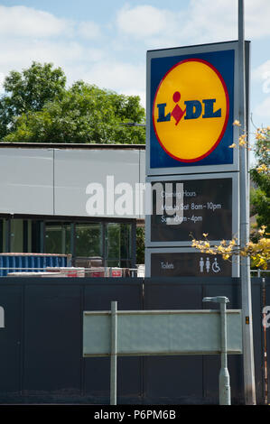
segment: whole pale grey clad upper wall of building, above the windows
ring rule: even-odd
[[[127,183],[133,213],[121,218],[143,218],[135,190],[144,183],[144,161],[142,149],[0,148],[0,213],[88,217],[86,190],[99,183],[105,207],[97,217],[118,217],[107,210],[107,194],[116,200],[125,194],[113,193],[117,184]],[[113,177],[113,190],[107,177]]]

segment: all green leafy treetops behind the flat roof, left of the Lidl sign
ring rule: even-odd
[[[143,127],[125,125],[144,122],[139,97],[118,95],[83,81],[70,89],[64,85],[61,69],[52,70],[51,64],[33,63],[22,75],[12,72],[5,78],[10,96],[0,104],[8,127],[2,132],[0,128],[2,139],[9,143],[145,142]]]

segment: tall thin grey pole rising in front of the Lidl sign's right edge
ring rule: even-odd
[[[245,31],[244,0],[238,0],[238,44],[239,44],[239,116],[244,133],[246,122],[246,78],[245,78]],[[240,246],[243,248],[249,239],[249,192],[248,163],[246,149],[240,148]],[[247,405],[256,404],[254,346],[252,329],[252,304],[250,263],[248,257],[241,258],[241,297],[243,310],[243,356],[244,390]]]

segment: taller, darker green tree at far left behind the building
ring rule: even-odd
[[[46,102],[60,99],[66,85],[61,68],[33,62],[20,73],[12,70],[5,78],[5,95],[0,98],[0,139],[14,132],[18,117],[40,111]]]

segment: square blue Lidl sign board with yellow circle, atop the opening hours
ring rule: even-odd
[[[147,52],[148,175],[237,171],[236,81],[237,41]]]

